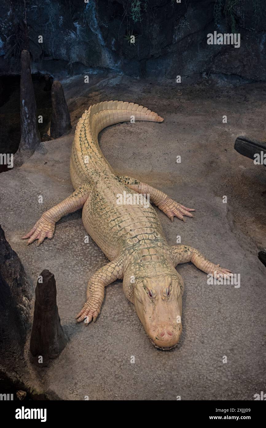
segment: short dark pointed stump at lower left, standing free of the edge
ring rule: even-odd
[[[43,270],[42,283],[35,288],[35,306],[30,338],[30,351],[35,357],[54,359],[67,345],[56,304],[56,281],[53,273]]]

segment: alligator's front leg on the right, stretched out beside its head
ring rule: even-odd
[[[198,250],[189,247],[187,245],[174,245],[172,248],[172,260],[174,265],[177,266],[179,263],[192,262],[198,269],[205,273],[214,273],[228,275],[231,270],[220,268],[220,265],[215,265],[206,259]]]

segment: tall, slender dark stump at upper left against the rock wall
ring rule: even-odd
[[[20,145],[15,155],[15,166],[31,156],[41,142],[36,118],[36,101],[33,90],[28,51],[21,52],[20,75]]]

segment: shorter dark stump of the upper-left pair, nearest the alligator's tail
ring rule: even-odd
[[[52,118],[50,126],[50,136],[61,137],[71,129],[70,114],[64,98],[64,90],[58,80],[52,85]]]

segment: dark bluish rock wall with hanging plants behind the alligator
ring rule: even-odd
[[[32,71],[51,74],[111,69],[156,79],[213,73],[266,80],[265,1],[140,0],[141,21],[132,18],[132,3],[32,0],[24,9],[23,1],[2,0],[1,74],[19,71],[20,48],[26,48]],[[226,5],[232,6],[230,16]],[[230,33],[232,19],[241,35],[240,48],[208,45],[207,34]],[[137,36],[134,45],[127,34]],[[39,35],[43,43],[38,43]]]

